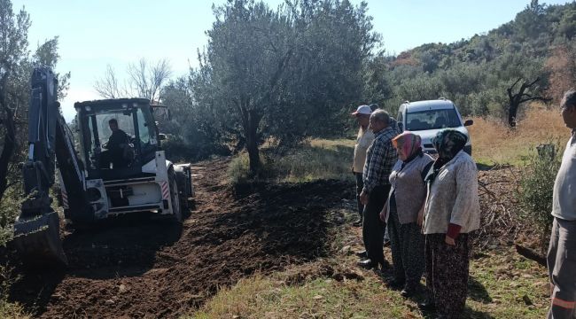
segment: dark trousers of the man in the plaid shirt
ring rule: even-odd
[[[384,230],[385,222],[380,221],[380,211],[384,207],[386,197],[390,192],[390,185],[377,186],[368,196],[368,203],[364,207],[364,220],[362,222],[362,240],[372,262],[384,266]]]

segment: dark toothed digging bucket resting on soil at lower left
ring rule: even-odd
[[[56,212],[27,219],[20,217],[14,224],[12,243],[27,266],[68,264],[62,249],[59,218]]]

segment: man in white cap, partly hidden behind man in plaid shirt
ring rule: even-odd
[[[366,151],[370,144],[372,144],[372,141],[374,141],[374,133],[368,129],[371,113],[372,110],[368,105],[360,105],[358,106],[358,109],[352,113],[352,116],[354,116],[360,125],[358,136],[356,137],[356,144],[354,145],[354,161],[352,164],[352,173],[354,173],[354,176],[356,177],[356,201],[358,205],[358,214],[360,215],[360,218],[354,222],[354,226],[356,227],[362,226],[362,212],[364,211],[364,205],[360,201],[360,193],[364,187],[364,183],[362,182],[362,172],[364,170],[364,163],[366,162]]]

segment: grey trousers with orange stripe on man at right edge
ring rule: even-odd
[[[550,319],[576,318],[576,221],[554,218],[548,250]]]

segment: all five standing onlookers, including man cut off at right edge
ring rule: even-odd
[[[564,124],[572,129],[553,190],[548,268],[549,319],[576,318],[576,91],[561,102]],[[458,318],[466,302],[471,238],[479,229],[478,173],[463,151],[467,136],[443,129],[432,139],[437,157],[422,152],[421,139],[401,132],[383,110],[361,105],[354,148],[358,212],[366,250],[364,268],[386,268],[383,237],[390,236],[393,280],[409,297],[425,272],[423,310]],[[362,169],[361,169],[362,168]]]

